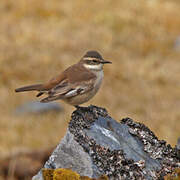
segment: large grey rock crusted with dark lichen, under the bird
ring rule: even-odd
[[[158,140],[130,118],[120,123],[96,106],[72,114],[67,133],[44,168],[69,168],[81,176],[109,179],[160,179],[180,166],[177,148]],[[33,180],[42,179],[40,171]]]

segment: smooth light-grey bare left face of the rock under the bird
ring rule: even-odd
[[[61,143],[56,147],[44,168],[70,168],[73,171],[91,177],[92,161],[84,149],[74,140],[74,135],[67,131]],[[33,180],[41,179],[41,172]]]

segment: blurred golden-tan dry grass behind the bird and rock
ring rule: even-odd
[[[87,50],[99,51],[113,64],[105,66],[103,86],[85,105],[104,107],[117,121],[130,117],[176,144],[179,0],[2,0],[0,158],[60,141],[74,107],[58,101],[60,110],[34,113],[27,103],[36,100],[36,93],[14,89],[51,79]]]

